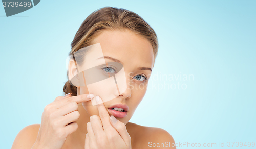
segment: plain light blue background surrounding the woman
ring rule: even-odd
[[[163,128],[176,143],[256,142],[256,1],[41,1],[10,17],[0,6],[0,148],[63,95],[71,41],[105,6],[131,10],[156,31],[153,76],[194,76],[150,80],[130,122]]]

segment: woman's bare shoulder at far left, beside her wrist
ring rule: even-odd
[[[14,139],[12,149],[31,148],[36,141],[39,128],[40,124],[32,124],[20,130],[16,138]]]

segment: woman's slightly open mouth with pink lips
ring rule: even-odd
[[[128,106],[123,104],[117,104],[109,107],[108,111],[116,118],[123,118],[127,116]]]

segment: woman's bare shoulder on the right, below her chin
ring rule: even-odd
[[[132,148],[176,148],[173,136],[164,129],[131,122],[126,124],[126,128],[132,138]]]

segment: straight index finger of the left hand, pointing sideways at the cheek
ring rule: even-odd
[[[71,102],[76,102],[77,104],[82,103],[82,102],[87,102],[87,101],[92,100],[93,97],[94,97],[93,94],[81,94],[81,95],[77,95],[77,96],[64,98],[63,100],[57,101],[58,102],[57,108],[67,105]]]

